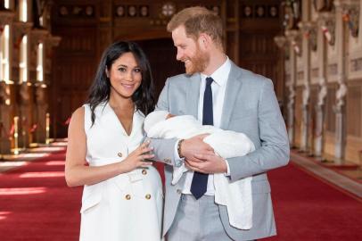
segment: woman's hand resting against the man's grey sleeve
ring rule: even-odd
[[[152,147],[149,147],[149,142],[145,142],[142,145],[138,146],[138,148],[132,153],[128,154],[128,157],[120,162],[122,165],[122,172],[129,172],[131,170],[135,170],[140,167],[148,167],[152,165],[152,162],[145,162],[146,159],[152,159],[154,154],[150,154],[153,150]]]

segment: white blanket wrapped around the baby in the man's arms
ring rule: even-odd
[[[202,126],[193,116],[175,116],[166,120],[168,112],[150,113],[144,120],[144,130],[153,138],[190,138],[210,134],[203,141],[209,144],[215,154],[224,159],[243,156],[255,150],[251,140],[243,133],[222,130],[213,126]],[[185,165],[174,167],[172,185],[187,171]],[[224,174],[214,174],[215,203],[225,205],[230,225],[236,229],[252,227],[251,177],[230,182]]]

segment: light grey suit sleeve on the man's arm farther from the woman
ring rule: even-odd
[[[260,147],[251,154],[227,159],[232,181],[251,177],[289,162],[289,140],[270,79],[264,81],[260,91],[258,122]]]

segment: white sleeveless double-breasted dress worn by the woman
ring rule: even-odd
[[[123,161],[144,138],[144,115],[135,112],[130,136],[109,104],[85,107],[86,161],[102,166]],[[91,186],[82,197],[81,241],[161,240],[163,194],[159,172],[137,169]]]

